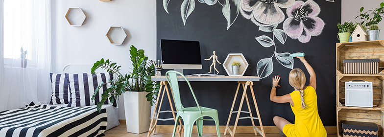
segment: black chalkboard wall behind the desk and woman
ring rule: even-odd
[[[201,70],[184,70],[184,74],[194,74],[194,73],[207,73],[209,67],[212,64],[211,61],[204,61],[204,58],[209,58],[212,55],[212,51],[216,51],[218,60],[223,63],[228,53],[242,53],[246,60],[249,63],[249,67],[246,70],[244,76],[258,76],[257,65],[258,62],[264,58],[270,58],[274,55],[274,50],[276,47],[276,53],[296,53],[296,52],[305,52],[305,58],[308,63],[312,65],[314,71],[316,72],[317,80],[317,102],[318,102],[318,112],[320,118],[323,121],[324,126],[336,126],[336,43],[338,42],[336,38],[336,33],[338,31],[336,23],[341,20],[341,0],[336,0],[335,2],[328,2],[326,0],[296,0],[293,3],[293,6],[290,8],[284,8],[284,5],[289,5],[289,3],[284,3],[284,1],[293,1],[293,0],[252,0],[249,5],[259,4],[259,8],[267,9],[264,11],[272,11],[273,9],[279,8],[284,13],[284,17],[277,15],[272,17],[267,17],[263,20],[262,18],[257,18],[254,16],[249,16],[249,20],[245,18],[244,15],[253,14],[252,9],[246,11],[247,7],[240,7],[239,16],[236,18],[237,7],[233,3],[236,0],[219,0],[215,4],[212,2],[201,3],[199,1],[204,0],[166,0],[168,2],[168,13],[163,7],[163,0],[157,0],[157,59],[161,60],[160,53],[160,40],[161,39],[172,39],[172,40],[189,40],[189,41],[199,41],[201,48],[201,60],[203,63],[203,69]],[[183,1],[194,2],[195,6],[192,13],[188,16],[185,25],[181,16],[181,5]],[[217,0],[205,0],[205,1],[217,1]],[[223,15],[223,6],[225,1],[230,1],[231,7],[231,20],[234,21],[232,25],[229,26],[226,18]],[[239,0],[242,4],[246,5],[246,2],[249,0]],[[260,3],[258,3],[258,2]],[[266,4],[265,1],[277,1],[278,3],[269,3]],[[213,5],[212,5],[213,4]],[[241,5],[241,4],[240,4]],[[274,5],[274,6],[271,6]],[[276,6],[277,5],[277,6]],[[290,4],[292,5],[292,4]],[[304,5],[304,6],[302,6]],[[316,7],[318,5],[318,7]],[[263,7],[264,6],[264,7]],[[190,8],[192,5],[189,6]],[[296,7],[296,9],[294,8]],[[248,7],[249,8],[249,7]],[[278,11],[279,9],[275,10]],[[321,9],[321,10],[320,10]],[[287,11],[292,11],[293,13],[287,14]],[[308,14],[307,14],[307,11]],[[241,13],[243,12],[243,13]],[[258,11],[254,15],[258,16]],[[267,16],[272,12],[266,13]],[[281,15],[280,13],[280,15]],[[318,14],[316,14],[318,13]],[[296,17],[295,17],[296,14]],[[303,15],[303,16],[297,16]],[[277,19],[280,17],[281,19]],[[307,18],[305,18],[307,17]],[[295,21],[299,20],[299,21]],[[316,22],[313,22],[315,20]],[[231,21],[231,22],[232,22]],[[305,29],[304,31],[307,35],[312,35],[312,37],[299,38],[300,34],[297,36],[295,32],[299,29],[294,29],[293,26],[299,26],[299,22],[302,21],[301,25],[305,25],[310,29]],[[324,23],[322,23],[322,21]],[[287,23],[286,23],[287,22]],[[278,38],[279,33],[264,32],[266,27],[259,27],[260,25],[265,25],[266,23],[278,23],[276,32],[286,32],[286,40]],[[258,26],[258,25],[259,26]],[[288,24],[288,27],[283,27],[283,24]],[[290,27],[289,27],[290,25]],[[317,26],[313,26],[317,25]],[[313,26],[313,27],[311,27]],[[272,27],[273,28],[273,27]],[[261,30],[259,30],[261,29]],[[263,31],[264,30],[264,31]],[[300,31],[301,32],[301,31]],[[300,33],[299,32],[299,33]],[[321,34],[319,34],[321,32]],[[296,32],[297,33],[297,32]],[[274,34],[276,36],[274,36]],[[285,36],[284,33],[282,36]],[[273,39],[276,46],[268,45],[268,38]],[[301,35],[301,36],[303,36]],[[317,35],[317,36],[316,36]],[[255,38],[260,39],[261,42],[266,42],[264,47],[262,44]],[[285,43],[284,45],[279,40],[282,40]],[[282,54],[281,56],[284,56]],[[263,125],[272,126],[273,116],[278,115],[282,116],[290,122],[294,122],[294,114],[291,111],[289,103],[279,104],[274,103],[269,100],[269,93],[272,86],[272,76],[280,75],[282,80],[280,81],[281,88],[277,88],[277,95],[284,95],[293,91],[293,88],[289,86],[288,83],[288,74],[291,70],[290,68],[301,68],[304,70],[307,76],[307,85],[309,83],[309,74],[306,71],[303,63],[299,59],[294,58],[293,66],[289,66],[289,63],[286,64],[287,67],[281,65],[275,56],[272,58],[273,63],[273,72],[266,76],[266,73],[261,74],[261,77],[264,77],[260,82],[254,82],[254,91],[256,100],[258,103],[260,115],[263,121]],[[289,68],[290,67],[290,68]],[[228,75],[222,65],[216,66],[219,74]],[[164,75],[166,70],[163,70],[162,74]],[[265,77],[266,76],[266,77]],[[237,82],[191,82],[196,98],[201,106],[214,108],[218,111],[219,123],[220,125],[226,125],[229,111],[231,109],[232,100],[235,95],[237,88]],[[184,107],[195,106],[193,97],[187,87],[185,82],[180,83],[180,90],[182,103]],[[250,91],[248,91],[248,97],[250,97]],[[167,97],[165,97],[166,100]],[[251,98],[250,98],[251,99]],[[240,100],[240,98],[238,98]],[[236,102],[235,110],[238,109],[240,101]],[[252,107],[253,106],[253,107]],[[243,110],[247,110],[246,105],[243,105]],[[253,103],[251,103],[251,109],[254,115],[256,111]],[[162,110],[170,110],[168,101],[164,101],[162,105]],[[247,115],[247,114],[241,114]],[[172,117],[170,113],[160,114],[159,117],[169,118]],[[232,115],[230,125],[233,125],[235,122],[235,116]],[[255,123],[258,125],[258,121],[255,120]],[[159,125],[173,125],[173,121],[159,121]],[[214,125],[214,122],[207,121],[204,125]],[[239,125],[252,125],[249,119],[239,120]]]

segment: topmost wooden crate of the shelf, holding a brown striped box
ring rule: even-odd
[[[343,59],[379,58],[379,74],[384,75],[384,40],[336,43],[336,74],[344,73]]]

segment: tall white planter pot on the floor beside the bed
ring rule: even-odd
[[[124,110],[127,132],[144,133],[149,129],[151,105],[145,98],[146,92],[126,91],[124,93]]]

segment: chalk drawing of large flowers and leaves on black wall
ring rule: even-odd
[[[260,79],[268,77],[273,71],[273,57],[286,68],[293,68],[293,57],[290,53],[277,53],[275,38],[285,44],[287,36],[291,39],[298,39],[301,43],[308,43],[312,36],[321,34],[324,28],[324,21],[317,15],[320,13],[319,5],[313,0],[306,2],[300,0],[198,0],[200,3],[215,5],[219,3],[224,18],[227,20],[227,30],[236,21],[239,14],[259,26],[259,31],[272,33],[272,38],[266,35],[255,39],[264,47],[274,46],[275,51],[269,58],[261,59],[256,66],[257,75]],[[163,7],[168,13],[169,0],[163,0]],[[252,4],[251,4],[252,3]],[[231,6],[236,10],[231,10]],[[195,0],[184,0],[180,7],[181,17],[184,25],[188,16],[195,7]],[[287,16],[280,8],[287,8]],[[232,8],[235,9],[235,8]],[[284,22],[284,23],[283,23]],[[283,29],[278,29],[278,24],[283,23]]]

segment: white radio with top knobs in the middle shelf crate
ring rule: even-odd
[[[345,82],[345,106],[373,107],[372,82]]]

